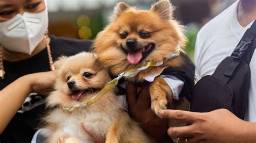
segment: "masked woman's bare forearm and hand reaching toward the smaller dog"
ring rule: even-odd
[[[25,75],[0,91],[0,134],[31,92],[42,92],[55,83],[53,71]]]

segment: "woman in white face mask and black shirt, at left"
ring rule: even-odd
[[[31,141],[44,111],[39,92],[54,82],[52,61],[89,50],[91,41],[49,37],[47,29],[44,0],[0,0],[0,142]]]

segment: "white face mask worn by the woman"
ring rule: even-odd
[[[31,54],[48,28],[48,11],[24,12],[0,23],[0,44],[10,51]]]

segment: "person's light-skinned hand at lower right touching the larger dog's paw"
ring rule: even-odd
[[[253,140],[248,139],[250,134],[246,133],[246,130],[248,130],[247,122],[234,116],[233,113],[226,109],[206,113],[164,110],[160,112],[160,116],[190,124],[183,127],[170,127],[167,131],[170,137],[180,138],[179,142],[185,142],[185,139],[189,143],[253,142]],[[254,124],[254,133],[256,132],[255,127]]]

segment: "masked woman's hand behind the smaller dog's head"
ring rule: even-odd
[[[31,92],[48,95],[53,90],[52,86],[56,80],[55,71],[34,73],[25,75],[24,78],[30,81]]]

